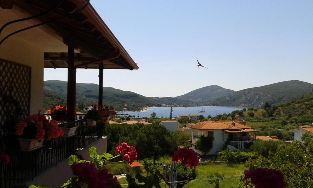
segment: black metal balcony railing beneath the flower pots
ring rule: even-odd
[[[61,160],[86,148],[104,135],[102,123],[92,127],[87,126],[85,119],[71,123],[78,126],[76,135],[46,140],[43,147],[28,152],[20,150],[18,136],[14,133],[0,136],[1,151],[10,156],[8,164],[0,163],[0,187],[11,187],[14,184],[33,180],[39,173],[51,166],[56,166]]]

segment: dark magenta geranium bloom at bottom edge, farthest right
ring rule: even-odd
[[[244,179],[251,178],[251,183],[255,188],[284,188],[286,186],[285,178],[280,170],[257,168],[244,171]]]

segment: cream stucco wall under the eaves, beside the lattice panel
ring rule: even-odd
[[[12,9],[0,8],[0,25],[12,20],[26,18],[29,14],[16,6]],[[0,40],[12,32],[38,24],[31,19],[6,27],[0,35]],[[44,52],[67,52],[63,39],[45,26],[39,26],[14,34],[0,46],[0,58],[31,67],[30,114],[43,109],[44,100]],[[57,76],[57,75],[56,75]]]

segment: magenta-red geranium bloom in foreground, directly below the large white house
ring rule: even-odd
[[[182,162],[182,165],[189,166],[189,168],[196,167],[199,164],[198,154],[192,149],[182,148],[174,153],[172,161]]]

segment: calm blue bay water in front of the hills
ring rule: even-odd
[[[203,113],[201,111],[203,109]],[[216,116],[216,114],[230,113],[234,110],[242,110],[243,107],[173,107],[173,115],[172,117],[178,117],[181,114],[198,114],[203,115],[204,117],[208,117],[208,115]],[[152,112],[156,112],[156,116],[160,118],[163,116],[164,118],[169,118],[171,107],[152,107],[147,108],[145,112],[119,112],[118,114],[124,113],[131,116],[139,116],[139,117],[149,117]]]

